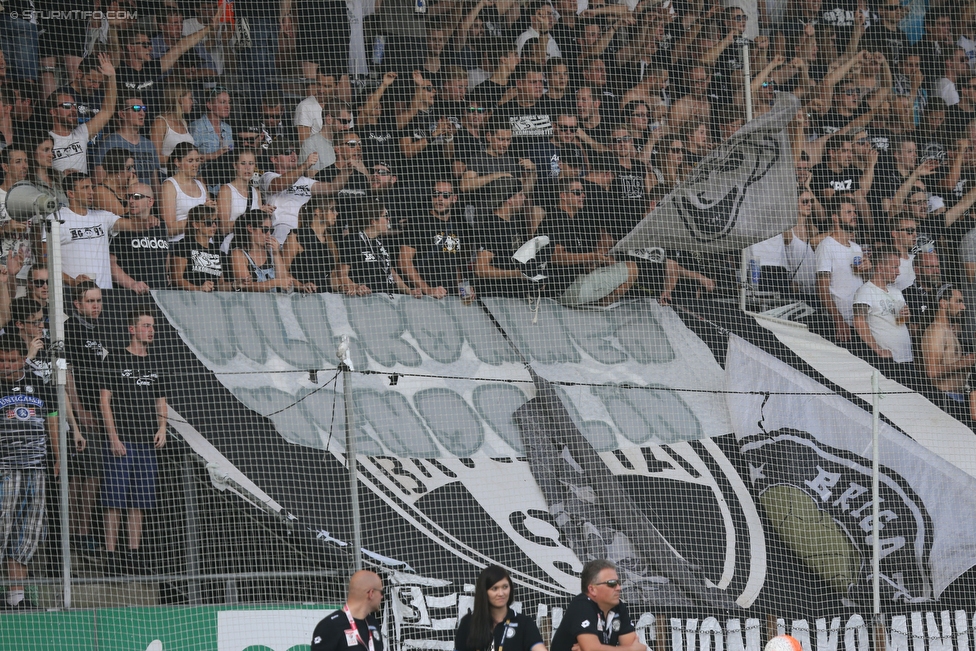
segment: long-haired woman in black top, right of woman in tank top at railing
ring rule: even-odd
[[[338,290],[333,270],[339,251],[332,238],[337,215],[334,199],[313,197],[298,211],[298,228],[288,234],[281,251],[289,273],[315,292]]]

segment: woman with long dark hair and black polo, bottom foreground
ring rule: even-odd
[[[515,591],[508,571],[489,565],[478,575],[474,609],[461,618],[454,636],[456,651],[546,651],[539,628],[512,610]]]

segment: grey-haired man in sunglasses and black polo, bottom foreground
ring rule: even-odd
[[[552,637],[550,651],[647,651],[637,639],[627,604],[621,601],[623,581],[613,561],[595,560],[580,573],[582,592],[569,603]]]

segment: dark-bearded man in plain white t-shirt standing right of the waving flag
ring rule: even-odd
[[[851,341],[854,293],[864,283],[861,275],[871,270],[871,262],[854,241],[857,208],[853,197],[833,197],[827,209],[833,230],[817,247],[817,297],[827,316],[823,324],[826,334],[844,345]]]

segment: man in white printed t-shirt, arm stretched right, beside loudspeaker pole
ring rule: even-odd
[[[105,210],[92,210],[95,192],[87,174],[64,177],[68,207],[58,211],[61,219],[61,264],[65,285],[74,287],[93,280],[102,289],[112,289],[112,260],[109,236],[122,231],[140,231],[145,226]]]

